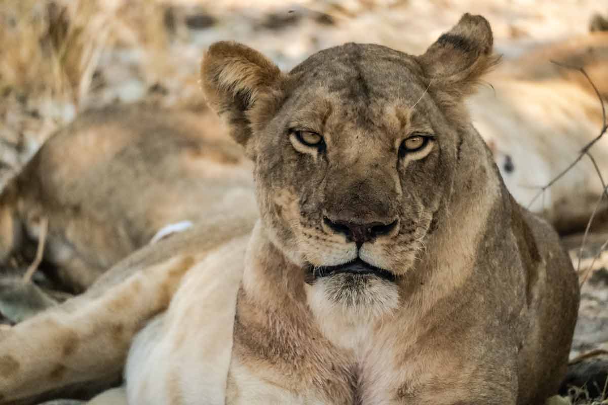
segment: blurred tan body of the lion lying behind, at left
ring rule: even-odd
[[[209,115],[137,105],[82,114],[0,196],[0,262],[36,243],[48,217],[45,259],[82,291],[164,226],[251,206],[250,163]]]

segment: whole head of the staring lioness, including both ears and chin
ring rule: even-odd
[[[241,44],[210,47],[207,99],[254,160],[264,232],[307,273],[309,301],[396,305],[395,280],[468,175],[461,155],[486,159],[463,98],[496,62],[488,22],[469,14],[421,56],[350,43],[289,73]]]

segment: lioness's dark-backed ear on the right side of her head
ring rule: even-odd
[[[492,55],[493,43],[489,22],[466,13],[418,61],[434,85],[461,98],[474,92],[480,77],[500,61],[500,56]]]

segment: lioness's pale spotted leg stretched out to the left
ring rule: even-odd
[[[255,216],[209,219],[147,245],[103,274],[86,293],[0,334],[0,403],[36,403],[119,380],[134,335],[167,309],[183,274],[231,239]],[[82,340],[81,340],[82,339]],[[6,354],[5,354],[6,353]],[[18,366],[15,366],[18,364]],[[61,387],[63,390],[58,391]],[[27,401],[16,402],[19,398]]]

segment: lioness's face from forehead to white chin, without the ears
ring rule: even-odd
[[[326,298],[393,299],[449,186],[455,130],[415,61],[385,47],[328,49],[291,74],[256,138],[266,228]]]

